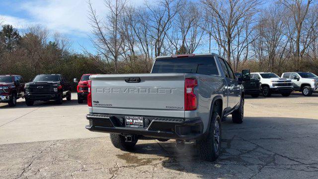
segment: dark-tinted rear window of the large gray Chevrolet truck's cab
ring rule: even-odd
[[[152,73],[196,73],[219,75],[213,57],[189,57],[158,59]]]

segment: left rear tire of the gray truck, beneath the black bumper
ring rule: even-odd
[[[117,149],[124,150],[124,151],[129,151],[133,150],[138,139],[136,142],[126,142],[125,141],[125,136],[120,135],[120,134],[112,134],[110,133],[110,141],[116,147]]]

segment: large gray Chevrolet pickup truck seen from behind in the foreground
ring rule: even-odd
[[[216,54],[156,58],[151,74],[92,75],[89,125],[110,133],[112,144],[131,150],[138,140],[195,140],[203,160],[221,149],[221,121],[243,121],[244,91],[230,65]]]

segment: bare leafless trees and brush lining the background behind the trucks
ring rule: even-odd
[[[17,30],[2,24],[0,74],[149,73],[161,55],[217,53],[235,71],[318,73],[318,3],[315,0],[156,0],[134,6],[87,2],[95,53],[71,48],[41,25]],[[0,19],[1,23],[1,19]]]

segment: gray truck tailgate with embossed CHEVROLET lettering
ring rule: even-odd
[[[91,76],[92,112],[184,117],[184,74]]]

